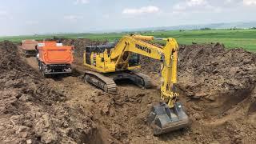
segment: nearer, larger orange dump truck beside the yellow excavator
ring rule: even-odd
[[[72,73],[73,46],[63,46],[62,43],[47,41],[39,42],[38,67],[44,77],[50,74]]]

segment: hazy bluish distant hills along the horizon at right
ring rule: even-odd
[[[230,23],[212,23],[205,25],[181,25],[181,26],[161,26],[161,27],[147,27],[140,29],[127,29],[122,31],[148,31],[148,30],[198,30],[202,28],[210,29],[230,29],[230,28],[251,28],[256,27],[256,22],[230,22]]]

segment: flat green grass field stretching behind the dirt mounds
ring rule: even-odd
[[[121,38],[127,33],[108,33],[108,34],[51,34],[38,36],[14,36],[0,37],[2,40],[10,40],[12,42],[21,42],[22,39],[44,39],[44,38],[90,38],[98,40],[108,40],[113,42]],[[154,35],[158,38],[176,38],[179,44],[190,45],[192,42],[210,43],[221,42],[227,48],[242,47],[249,51],[256,52],[256,30],[170,30],[170,31],[154,31],[140,32],[139,34]]]

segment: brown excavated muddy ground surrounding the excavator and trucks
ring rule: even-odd
[[[74,45],[82,71],[87,39]],[[159,62],[142,58],[154,87],[118,83],[118,94],[82,82],[81,76],[42,78],[35,58],[0,43],[0,143],[256,143],[256,55],[220,44],[180,46],[179,101],[190,116],[186,129],[155,137],[146,125],[159,102]]]

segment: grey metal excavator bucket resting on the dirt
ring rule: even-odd
[[[148,122],[153,128],[154,135],[159,135],[188,126],[189,118],[181,103],[174,103],[173,108],[166,103],[160,103],[152,107]]]

